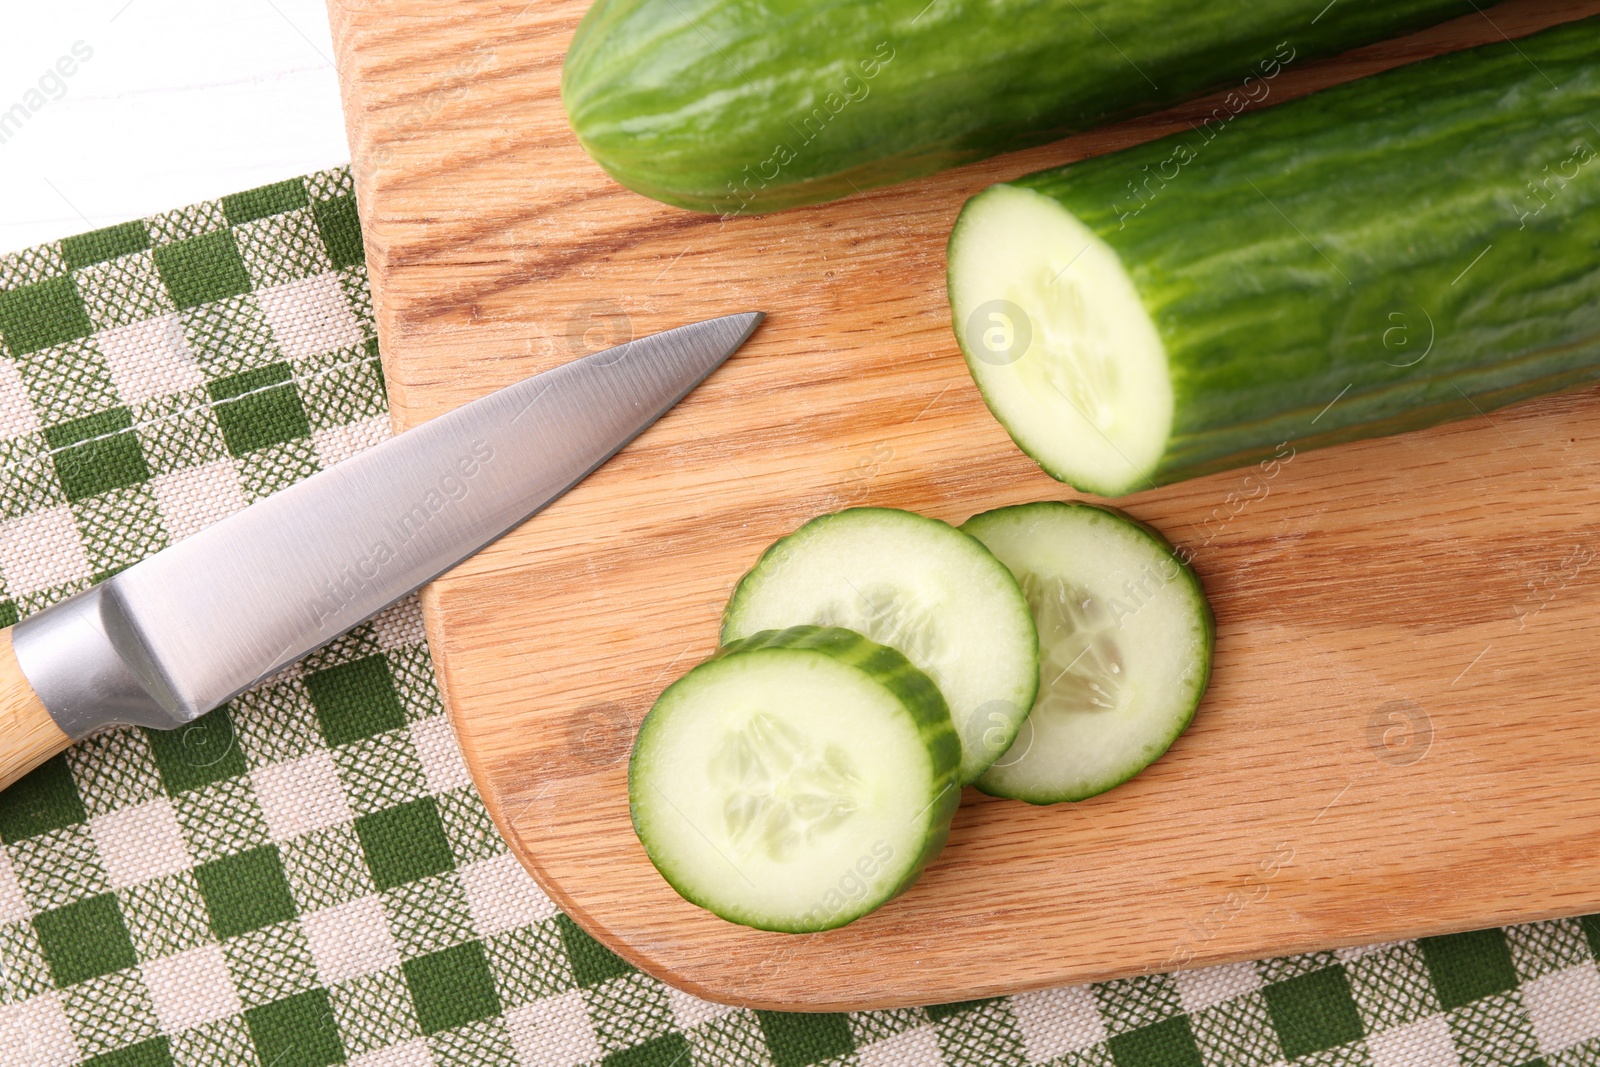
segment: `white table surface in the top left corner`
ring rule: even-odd
[[[11,0],[0,19],[0,122],[37,106],[0,125],[0,253],[350,158],[323,0]],[[61,78],[74,46],[90,58]]]

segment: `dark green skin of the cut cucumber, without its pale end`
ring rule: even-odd
[[[1600,378],[1595,54],[1600,18],[1014,182],[1099,234],[1155,320],[1176,403],[1149,482]],[[1176,174],[1133,211],[1146,168]]]

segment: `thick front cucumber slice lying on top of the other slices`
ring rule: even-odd
[[[797,625],[725,646],[638,728],[634,830],[683,899],[808,933],[904,893],[960,803],[960,742],[933,681],[893,648]]]

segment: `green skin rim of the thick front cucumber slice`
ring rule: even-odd
[[[939,686],[936,686],[928,675],[917,670],[917,667],[914,667],[912,662],[896,649],[870,641],[854,630],[830,625],[792,625],[784,630],[762,630],[760,633],[752,633],[730,645],[723,645],[712,653],[709,659],[702,661],[701,665],[728,656],[760,651],[814,651],[848,664],[867,673],[878,685],[893,693],[910,713],[912,721],[917,723],[917,731],[928,745],[928,753],[933,757],[934,777],[938,782],[942,782],[942,785],[936,785],[938,793],[933,805],[928,808],[928,825],[933,832],[923,838],[922,853],[912,862],[906,877],[901,878],[888,897],[885,897],[885,902],[893,901],[899,894],[906,893],[906,889],[917,881],[928,864],[931,864],[944,849],[944,843],[950,837],[950,819],[955,817],[955,809],[962,803],[962,787],[958,777],[962,766],[962,741],[955,733],[954,723],[950,721],[950,710],[944,704],[944,694],[939,693]],[[661,696],[656,697],[656,704],[666,701],[675,685],[678,683],[674,681],[667,686]],[[654,710],[654,707],[651,707],[651,710]],[[645,846],[646,856],[650,856],[650,845],[645,841],[646,835],[640,832],[642,827],[638,824],[637,797],[640,782],[635,771],[638,768],[638,753],[648,741],[650,728],[651,717],[646,713],[645,720],[638,725],[638,734],[634,737],[634,750],[627,763],[629,816],[634,824],[634,833],[638,837],[640,845]],[[661,873],[661,877],[678,896],[696,907],[712,910],[706,901],[696,899],[696,894],[688,886],[674,881],[670,873],[654,864],[654,857],[651,857],[651,864],[656,865],[658,873]],[[824,926],[790,928],[768,925],[757,926],[757,929],[770,929],[782,934],[805,934],[835,929],[851,921],[854,921],[854,917],[845,917]]]

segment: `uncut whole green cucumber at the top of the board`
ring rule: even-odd
[[[629,189],[694,211],[755,214],[1242,85],[1274,56],[1283,62],[1280,45],[1299,64],[1472,11],[1469,0],[1226,10],[1181,0],[597,0],[568,48],[562,99],[579,142]]]

